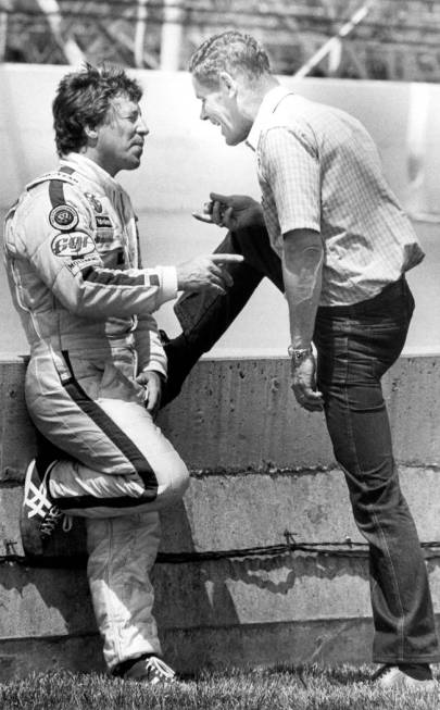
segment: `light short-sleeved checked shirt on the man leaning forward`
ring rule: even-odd
[[[282,235],[291,229],[323,237],[320,306],[373,298],[424,258],[373,139],[348,113],[277,86],[266,94],[247,142],[256,151],[275,251],[282,257]]]

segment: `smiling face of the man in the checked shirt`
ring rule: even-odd
[[[247,139],[252,127],[250,122],[239,110],[237,95],[224,83],[218,88],[202,84],[196,76],[192,77],[196,97],[202,102],[200,119],[211,121],[215,126],[221,126],[222,135],[228,146],[237,146]]]

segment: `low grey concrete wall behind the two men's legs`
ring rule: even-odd
[[[102,669],[81,525],[59,534],[45,564],[23,557],[17,518],[34,452],[24,369],[23,359],[0,361],[0,681]],[[402,485],[425,541],[440,540],[439,369],[440,357],[402,358],[385,378]],[[370,658],[362,549],[216,555],[282,545],[286,530],[298,543],[362,541],[323,418],[298,409],[288,375],[287,359],[206,359],[160,414],[192,471],[185,502],[162,515],[154,570],[160,633],[180,671]],[[427,557],[440,613],[440,552]]]

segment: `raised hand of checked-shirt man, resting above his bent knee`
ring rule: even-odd
[[[211,217],[214,224],[230,232],[243,227],[264,225],[263,208],[248,195],[219,195],[211,192]]]

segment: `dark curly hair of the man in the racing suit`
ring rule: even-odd
[[[110,102],[116,96],[126,96],[136,102],[142,96],[139,84],[118,66],[86,64],[83,70],[61,79],[52,103],[59,155],[78,152],[87,144],[85,126],[104,123]]]

